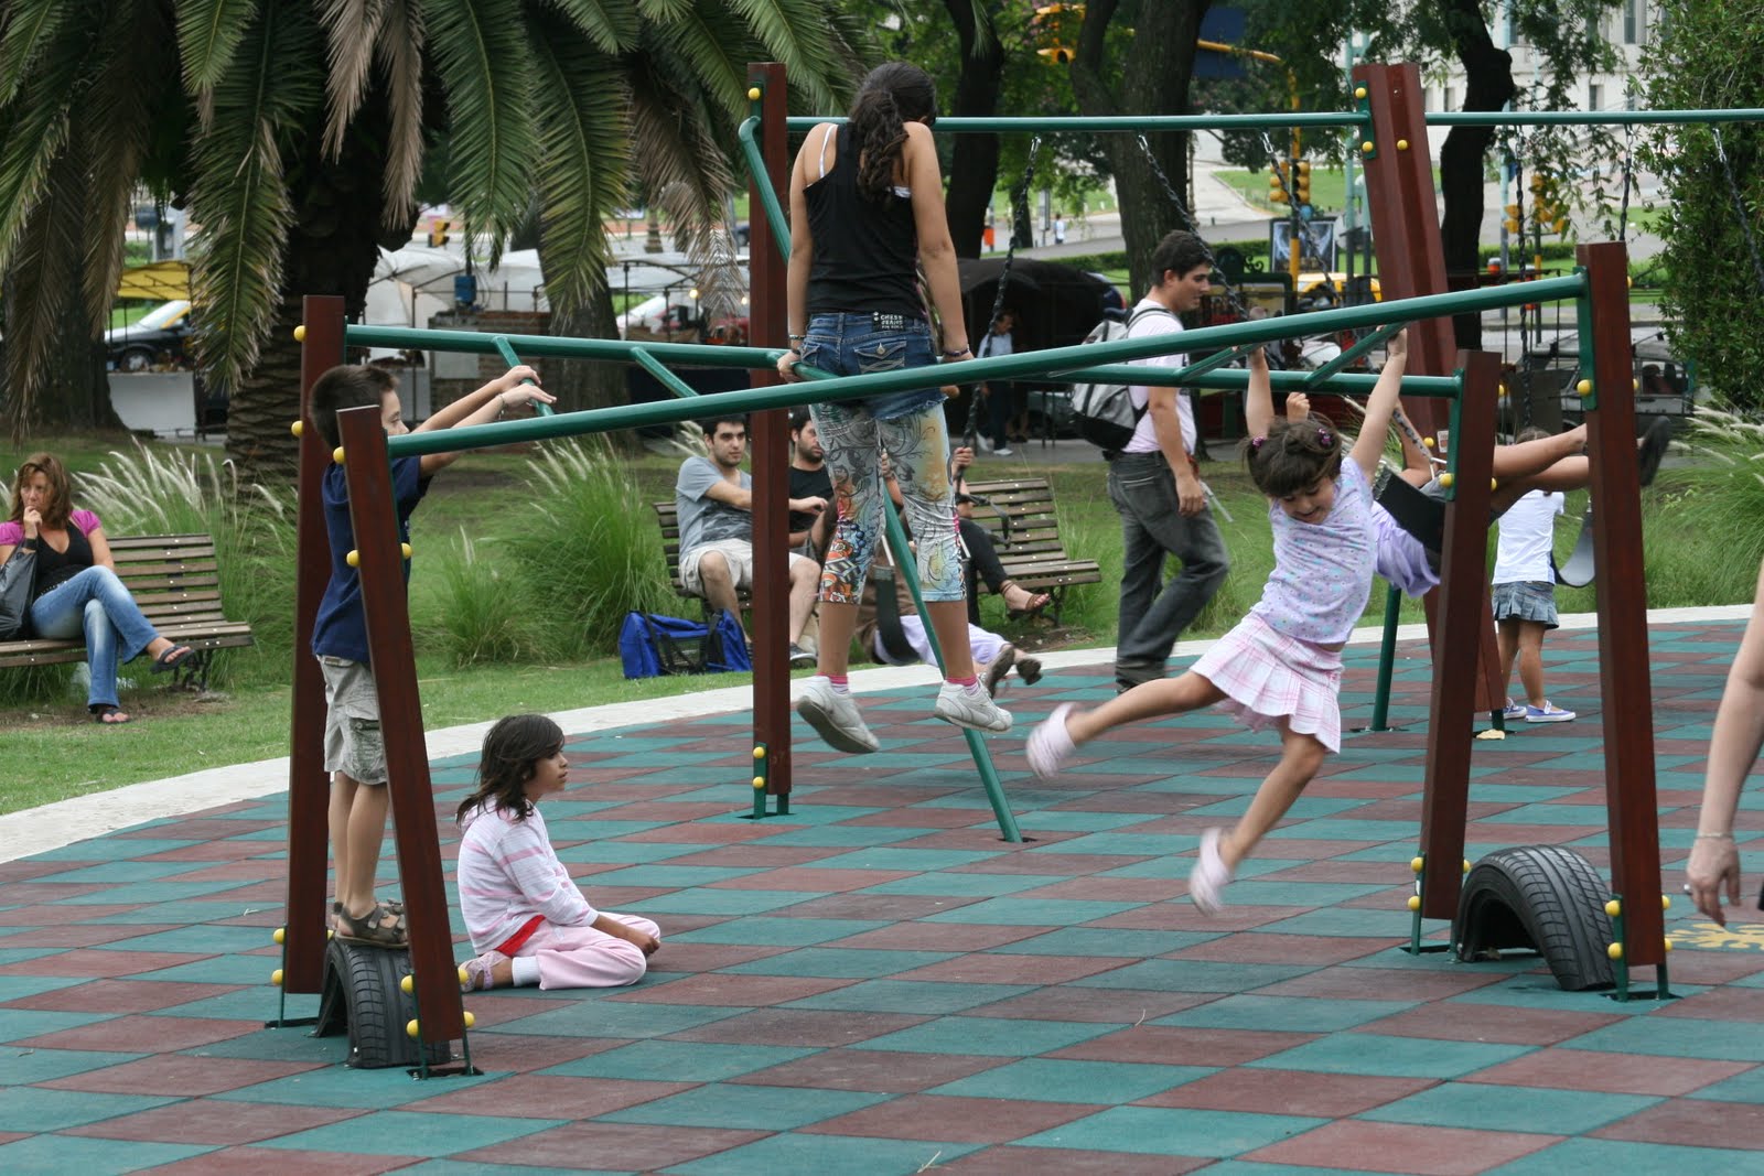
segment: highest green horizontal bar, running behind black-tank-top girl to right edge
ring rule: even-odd
[[[804,132],[824,122],[845,118],[787,118],[785,127]],[[956,134],[1000,134],[1032,130],[1274,130],[1286,127],[1358,127],[1358,111],[1286,111],[1263,115],[1069,115],[1060,118],[938,118],[938,130]],[[1764,122],[1764,109],[1686,111],[1434,111],[1429,127],[1644,127],[1713,122]]]

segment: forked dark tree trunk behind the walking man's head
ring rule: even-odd
[[[1102,56],[1108,25],[1117,0],[1094,0],[1085,12],[1073,58],[1073,90],[1083,115],[1184,115],[1189,109],[1189,81],[1194,78],[1194,51],[1201,16],[1212,0],[1162,0],[1138,7],[1132,48],[1122,69],[1120,93],[1104,81]],[[1175,185],[1187,187],[1189,143],[1185,134],[1148,134],[1157,167]],[[1171,229],[1187,227],[1177,201],[1164,190],[1140,150],[1138,136],[1104,136],[1115,194],[1120,199],[1120,227],[1127,243],[1132,293],[1150,289],[1152,250]]]

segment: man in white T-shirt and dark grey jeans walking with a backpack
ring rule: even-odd
[[[1129,312],[1127,339],[1182,330],[1177,317],[1201,305],[1212,254],[1192,233],[1175,231],[1152,252],[1154,286]],[[1182,365],[1182,356],[1138,360]],[[1231,566],[1224,538],[1207,508],[1194,465],[1194,407],[1180,388],[1131,388],[1132,435],[1110,450],[1108,495],[1120,515],[1120,631],[1115,638],[1115,686],[1132,689],[1164,677],[1164,663],[1194,617],[1224,584]],[[1180,573],[1164,584],[1164,557]]]

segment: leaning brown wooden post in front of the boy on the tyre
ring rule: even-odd
[[[349,525],[355,529],[362,612],[379,695],[379,735],[386,748],[385,786],[392,790],[399,882],[411,936],[411,971],[416,977],[416,1017],[425,1042],[450,1042],[464,1037],[466,1023],[446,913],[446,883],[441,878],[441,836],[436,829],[434,786],[429,781],[404,555],[379,407],[339,413],[337,432],[342,434],[348,458],[344,476],[349,481]]]

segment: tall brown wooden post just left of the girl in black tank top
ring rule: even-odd
[[[769,183],[789,192],[789,113],[783,65],[748,65],[748,86],[760,88],[760,152],[766,176],[748,180],[748,340],[783,347],[785,261],[759,197]],[[780,383],[776,368],[753,368],[753,388]],[[766,792],[790,795],[790,414],[755,413],[748,421],[753,453],[753,744],[766,748]]]

